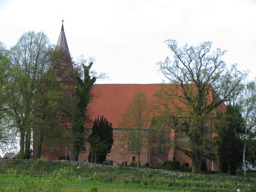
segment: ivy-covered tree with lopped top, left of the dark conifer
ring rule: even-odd
[[[84,74],[83,79],[79,75],[79,71],[75,71],[75,79],[77,86],[75,88],[75,110],[70,114],[71,117],[71,140],[72,140],[72,149],[70,160],[77,161],[80,151],[84,148],[84,134],[85,128],[84,123],[86,120],[85,113],[87,111],[86,107],[90,102],[90,90],[92,85],[96,81],[96,77],[90,76],[90,69],[92,67],[92,61],[86,66],[82,63]]]

